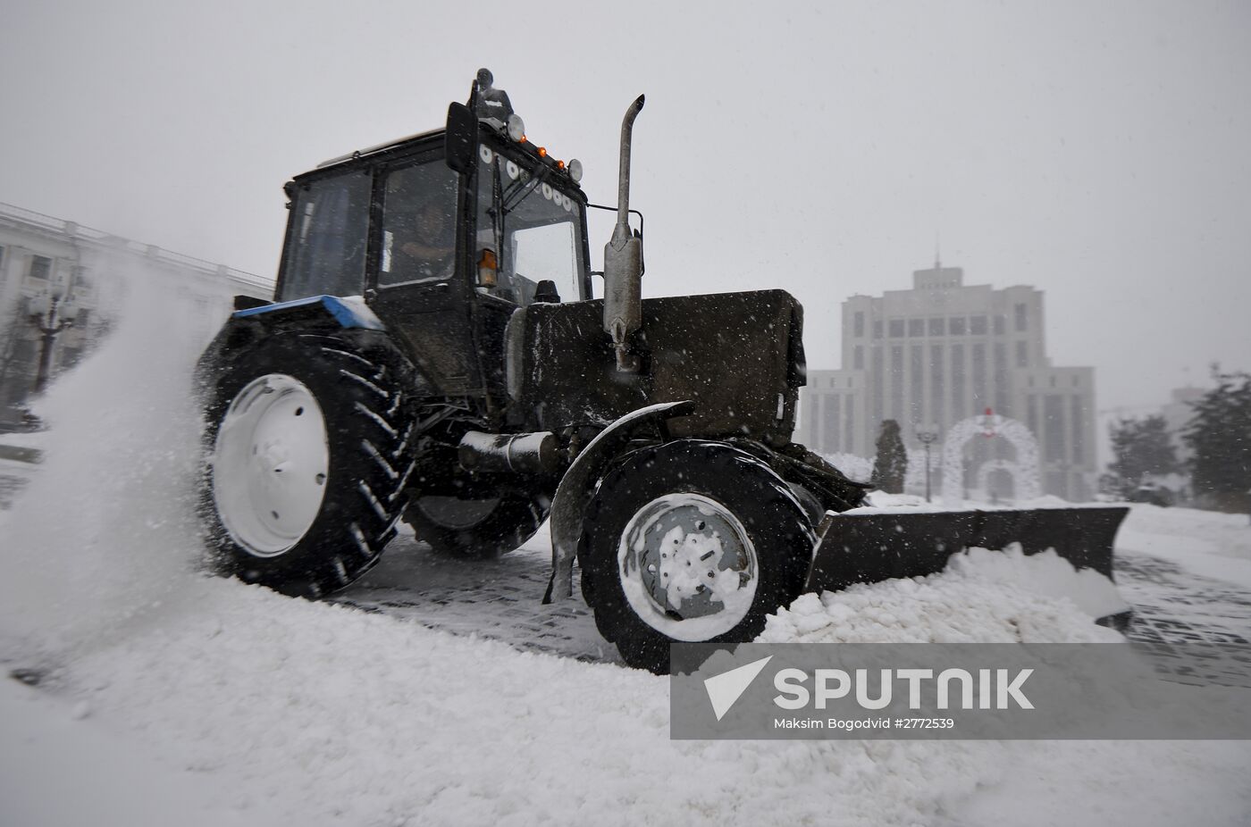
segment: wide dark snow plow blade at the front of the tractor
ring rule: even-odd
[[[1073,568],[1095,569],[1111,581],[1112,542],[1128,512],[1125,507],[831,512],[821,522],[804,591],[834,592],[853,583],[936,574],[966,548],[1002,550],[1012,543],[1026,554],[1055,549]]]

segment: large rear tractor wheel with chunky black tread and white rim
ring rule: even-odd
[[[206,389],[200,497],[201,523],[219,572],[284,594],[317,598],[348,586],[378,562],[407,504],[405,487],[414,464],[414,427],[405,410],[403,378],[397,373],[395,367],[344,338],[317,334],[271,335],[219,360]],[[281,379],[261,379],[266,377]],[[286,409],[268,402],[265,394],[275,389],[279,400],[284,394],[294,399]],[[311,412],[299,404],[305,390],[317,403]],[[308,448],[317,443],[315,423],[294,419],[318,413],[327,468],[324,474],[314,474],[315,484],[323,488],[320,502],[303,480],[320,460],[301,465],[299,457],[301,452],[317,454]],[[288,414],[293,418],[265,419]],[[290,434],[301,429],[313,435],[300,444],[283,443],[294,440]],[[256,455],[266,437],[273,439],[261,452],[263,460],[240,459],[249,450],[248,443],[255,443],[250,453]],[[286,454],[293,462],[283,459]],[[276,508],[269,512],[273,520],[261,513],[280,499],[265,489],[268,480],[278,479],[270,470],[279,474],[291,467],[295,473],[274,484],[301,478],[296,494],[288,499],[303,514],[315,509],[303,532],[303,519],[294,519],[291,527],[278,522]],[[264,489],[259,495],[258,487]],[[239,493],[240,488],[248,494]]]

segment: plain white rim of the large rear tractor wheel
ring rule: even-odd
[[[230,538],[256,557],[290,550],[325,495],[325,417],[300,380],[271,373],[231,400],[213,452],[213,499]]]

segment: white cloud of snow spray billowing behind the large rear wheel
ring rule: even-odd
[[[175,596],[200,556],[190,383],[204,342],[190,340],[186,317],[203,309],[159,273],[131,270],[101,290],[124,297],[120,322],[38,400],[43,463],[0,517],[0,644],[26,666],[121,634]]]

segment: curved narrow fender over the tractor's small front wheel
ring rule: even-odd
[[[639,430],[658,420],[681,417],[692,405],[689,400],[662,402],[632,410],[600,430],[569,465],[552,498],[552,579],[543,596],[544,603],[573,594],[573,561],[578,557],[582,515],[613,459]]]

